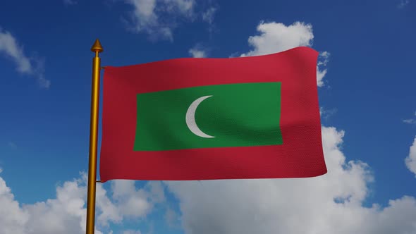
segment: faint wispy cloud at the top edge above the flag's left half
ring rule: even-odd
[[[176,17],[193,16],[194,0],[126,0],[133,6],[130,27],[134,32],[146,32],[153,39],[173,40]]]

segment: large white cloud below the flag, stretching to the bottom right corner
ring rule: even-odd
[[[364,207],[373,178],[346,161],[343,131],[322,128],[328,173],[315,178],[167,182],[180,199],[185,233],[415,233],[416,199]]]

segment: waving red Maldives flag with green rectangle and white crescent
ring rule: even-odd
[[[103,182],[326,173],[317,51],[104,70]]]

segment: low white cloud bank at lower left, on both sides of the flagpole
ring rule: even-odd
[[[85,233],[87,176],[66,181],[56,187],[56,198],[35,204],[19,204],[10,187],[0,177],[0,233],[48,234]],[[137,190],[125,180],[111,182],[112,196],[97,184],[96,230],[102,233],[109,222],[121,223],[123,218],[145,217],[155,202],[164,202],[160,182],[148,183]],[[130,230],[128,230],[130,231]],[[130,233],[140,233],[139,231]]]

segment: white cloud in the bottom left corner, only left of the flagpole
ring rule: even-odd
[[[0,233],[85,233],[85,194],[80,180],[68,181],[55,199],[20,205],[0,178]]]

